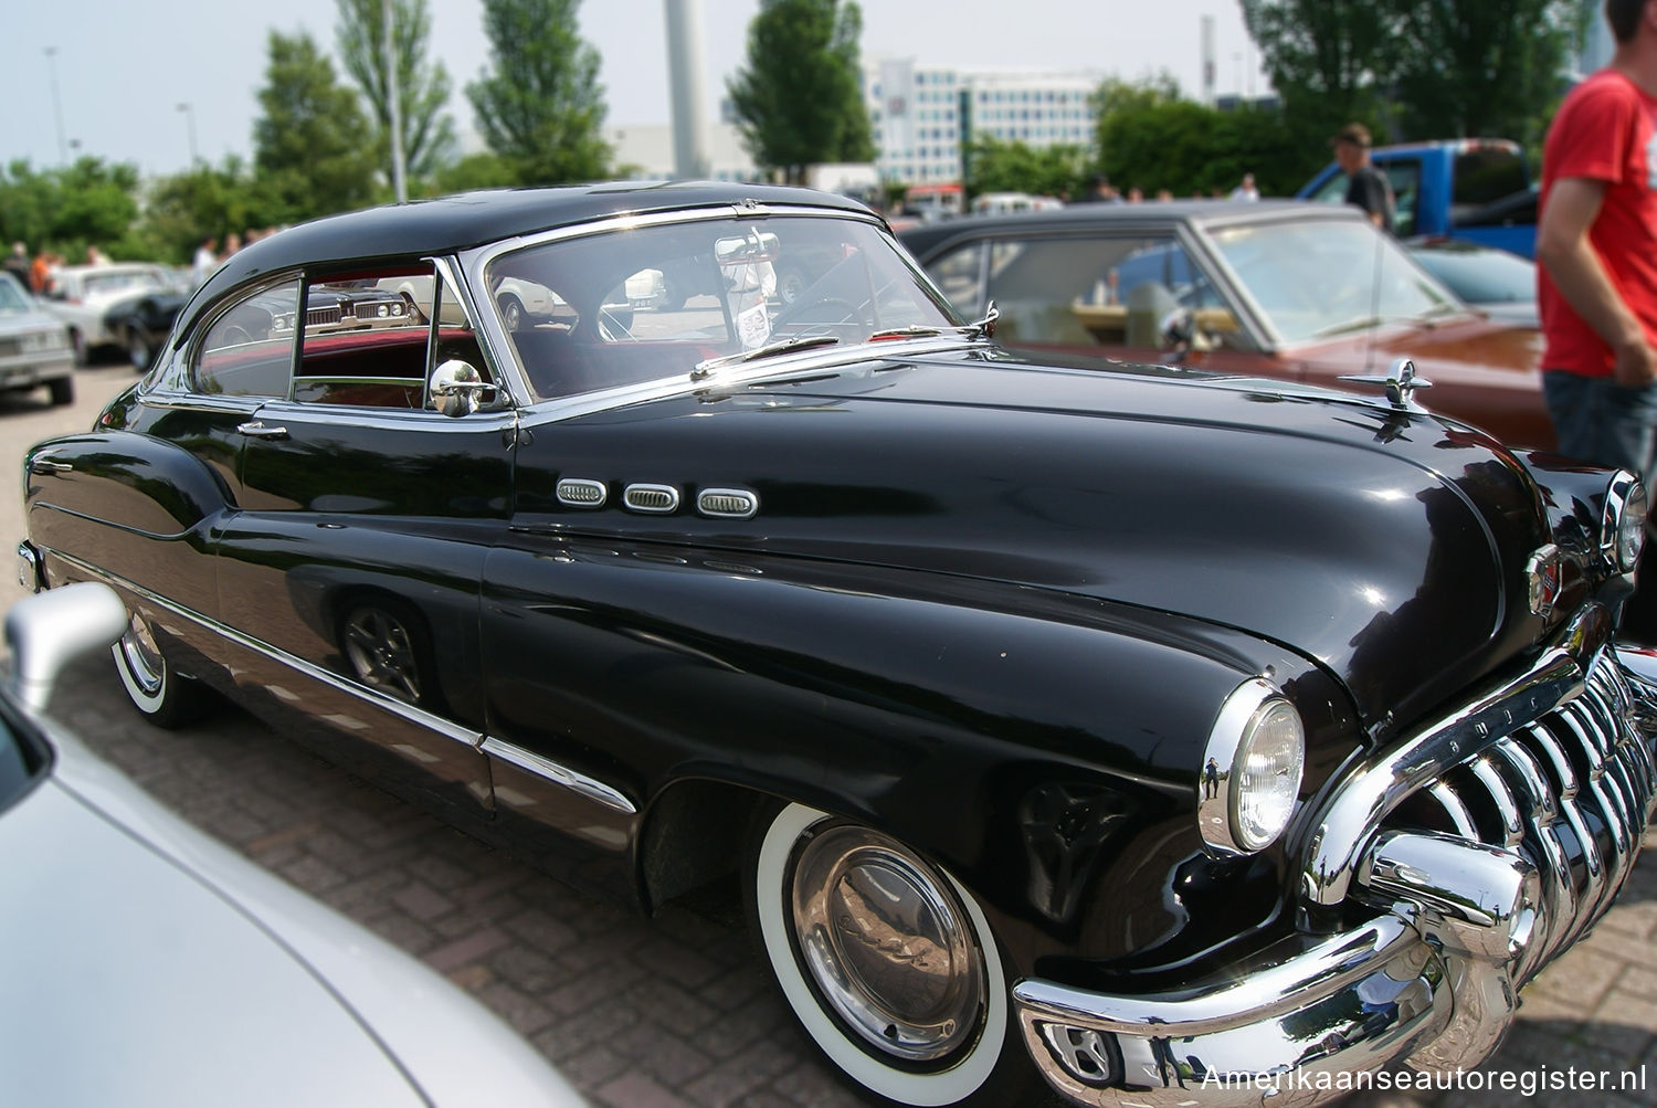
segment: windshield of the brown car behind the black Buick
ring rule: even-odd
[[[1249,224],[1211,234],[1283,343],[1461,308],[1367,222]]]

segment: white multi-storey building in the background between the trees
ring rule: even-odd
[[[961,154],[988,134],[1032,147],[1092,146],[1099,73],[968,71],[886,58],[863,73],[883,181],[961,181]]]

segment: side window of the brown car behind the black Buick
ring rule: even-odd
[[[996,242],[989,296],[1011,343],[1162,349],[1176,308],[1196,313],[1210,348],[1238,336],[1236,316],[1171,235]]]

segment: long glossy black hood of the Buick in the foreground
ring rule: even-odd
[[[1372,727],[1511,656],[1529,619],[1514,563],[1548,525],[1524,467],[1481,432],[1276,381],[1007,361],[713,389],[563,424],[557,454],[568,475],[739,485],[761,502],[742,523],[588,527],[698,527],[703,542],[1200,618],[1329,666]]]

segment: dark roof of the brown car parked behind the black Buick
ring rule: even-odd
[[[898,238],[913,255],[926,257],[946,243],[984,235],[1051,234],[1095,227],[1170,227],[1173,224],[1234,225],[1278,219],[1362,220],[1364,214],[1349,204],[1316,200],[1082,202],[1039,212],[961,215],[959,219],[905,229],[898,232]]]

